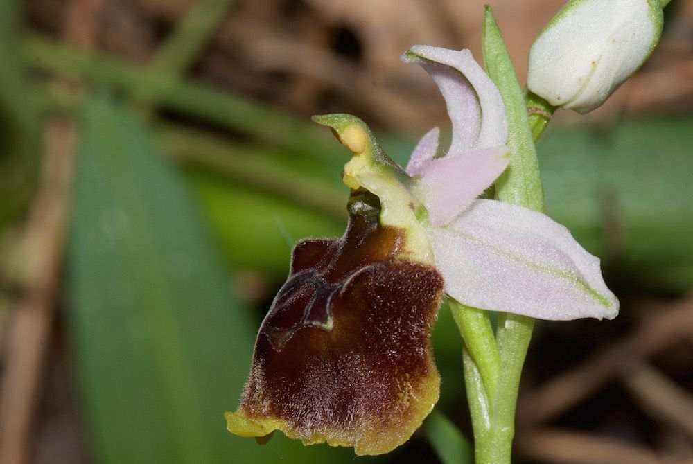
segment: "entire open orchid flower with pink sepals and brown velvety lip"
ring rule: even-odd
[[[360,119],[315,116],[353,152],[340,239],[304,240],[258,333],[229,431],[275,429],[306,444],[381,454],[430,413],[440,378],[430,333],[443,293],[482,310],[540,319],[613,318],[617,300],[565,227],[537,211],[478,199],[507,167],[502,98],[469,51],[414,46],[453,123],[403,170]]]

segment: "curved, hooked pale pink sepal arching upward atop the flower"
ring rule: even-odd
[[[505,145],[503,100],[470,51],[416,45],[402,59],[421,64],[438,84],[453,122],[451,154]]]

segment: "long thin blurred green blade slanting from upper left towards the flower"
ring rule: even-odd
[[[100,53],[77,51],[37,35],[28,37],[24,52],[28,64],[37,68],[105,84],[143,102],[245,132],[263,143],[275,143],[313,159],[323,159],[325,153],[334,152],[335,145],[317,125],[263,102],[156,69],[142,69]]]

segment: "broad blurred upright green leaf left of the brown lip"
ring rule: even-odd
[[[231,298],[182,179],[109,100],[85,111],[75,195],[67,316],[98,462],[353,459],[349,449],[283,436],[259,446],[225,430],[256,325]]]

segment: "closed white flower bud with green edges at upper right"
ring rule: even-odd
[[[656,46],[660,0],[571,0],[529,51],[527,87],[554,106],[592,111]]]

